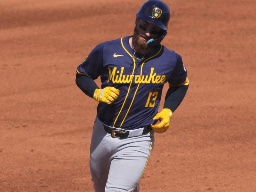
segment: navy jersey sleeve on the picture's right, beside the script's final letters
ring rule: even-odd
[[[187,69],[185,68],[181,56],[176,53],[176,66],[172,71],[172,75],[168,79],[171,86],[179,86],[186,82],[187,79]]]

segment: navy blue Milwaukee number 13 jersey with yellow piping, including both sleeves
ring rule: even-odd
[[[97,115],[103,123],[127,130],[154,123],[164,84],[178,86],[187,77],[181,56],[161,44],[143,60],[135,59],[130,37],[97,45],[77,67],[78,73],[92,79],[100,76],[101,88],[120,90],[112,104],[99,103]]]

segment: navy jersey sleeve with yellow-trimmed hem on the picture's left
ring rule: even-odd
[[[103,45],[97,45],[92,52],[80,63],[77,67],[76,72],[88,77],[93,80],[100,76],[100,71],[103,66]]]

